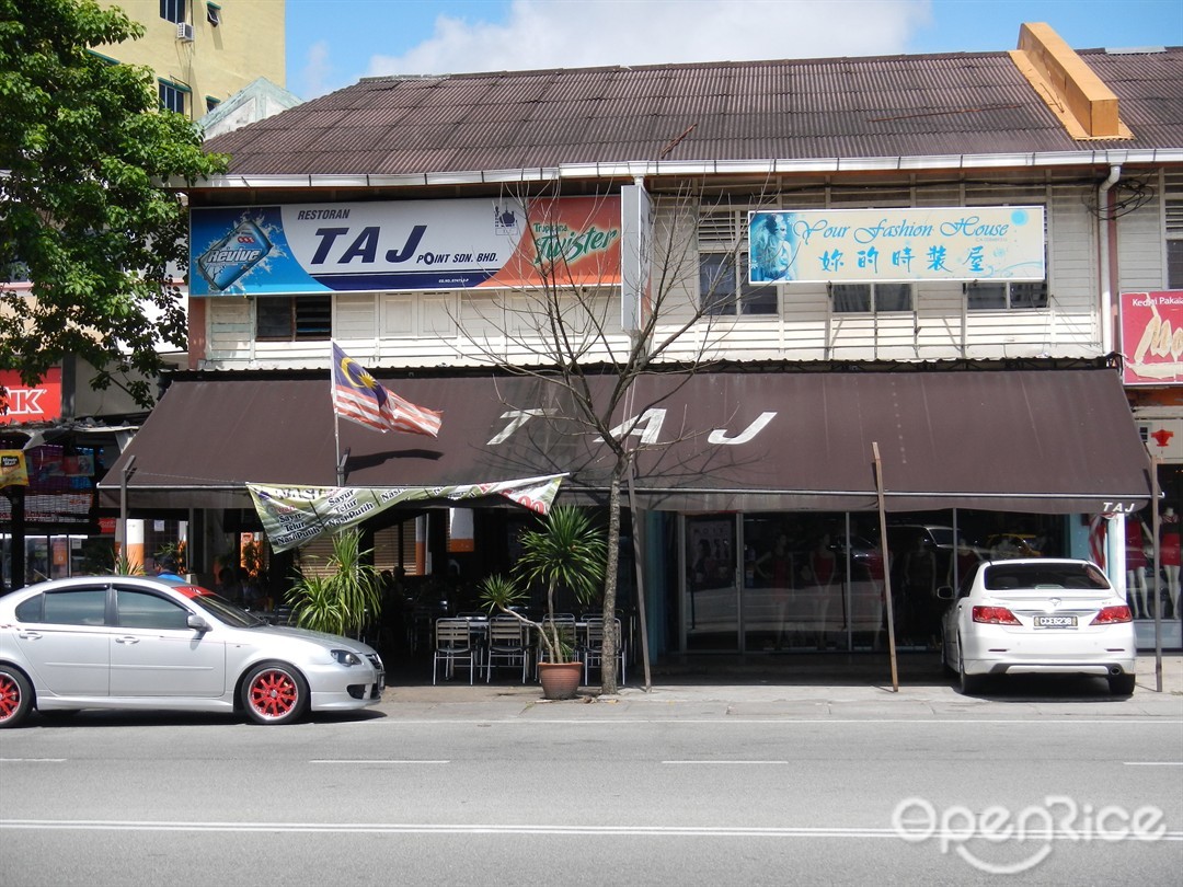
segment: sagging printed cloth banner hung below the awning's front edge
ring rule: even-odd
[[[486,496],[503,496],[510,501],[545,514],[565,474],[551,474],[492,484],[454,486],[354,487],[354,486],[270,486],[247,484],[254,510],[276,551],[303,545],[325,533],[340,532],[380,514],[395,505],[425,499],[463,501]]]

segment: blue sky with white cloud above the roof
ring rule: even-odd
[[[286,86],[304,99],[388,75],[1003,52],[1024,21],[1077,50],[1183,45],[1181,0],[286,2]]]

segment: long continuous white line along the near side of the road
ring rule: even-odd
[[[4,830],[80,831],[278,831],[321,834],[416,834],[416,835],[587,835],[657,837],[887,837],[900,840],[894,828],[761,827],[761,826],[505,826],[439,823],[323,823],[323,822],[137,822],[121,820],[0,820]],[[933,833],[935,837],[963,839],[956,829]],[[1056,830],[1058,841],[1079,841],[1072,829]],[[1183,842],[1183,831],[1166,831],[1158,841]]]

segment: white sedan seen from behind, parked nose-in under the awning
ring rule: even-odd
[[[985,561],[937,594],[951,601],[942,655],[963,693],[995,674],[1097,674],[1116,694],[1133,692],[1132,614],[1097,564]]]

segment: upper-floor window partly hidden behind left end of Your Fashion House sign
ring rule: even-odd
[[[748,211],[704,213],[698,228],[698,296],[707,315],[776,315],[776,286],[748,281]]]

